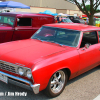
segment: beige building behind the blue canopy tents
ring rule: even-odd
[[[10,1],[10,0],[2,0]],[[16,11],[25,11],[25,12],[44,12],[45,10],[50,10],[53,13],[64,13],[68,15],[78,15],[81,16],[82,12],[78,7],[65,0],[13,0],[15,2],[21,2],[27,6],[30,6],[30,9],[18,9]]]

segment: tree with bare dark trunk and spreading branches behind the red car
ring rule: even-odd
[[[100,5],[100,0],[66,0],[77,5],[77,7],[82,11],[83,14],[86,14],[89,18],[89,25],[93,25],[94,14],[100,12],[98,9]],[[87,6],[88,2],[88,6]],[[88,8],[88,9],[87,9]]]

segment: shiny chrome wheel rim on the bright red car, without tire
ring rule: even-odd
[[[57,71],[51,79],[51,91],[58,93],[62,90],[65,83],[65,73],[63,71]]]

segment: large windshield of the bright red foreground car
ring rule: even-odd
[[[32,36],[32,39],[76,47],[79,37],[80,31],[43,26]]]

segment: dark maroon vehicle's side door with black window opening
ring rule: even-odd
[[[17,25],[13,34],[14,40],[28,39],[33,35],[32,18],[18,18]]]

